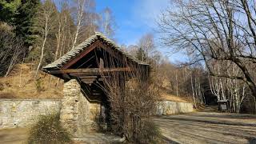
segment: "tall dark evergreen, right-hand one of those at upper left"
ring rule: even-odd
[[[40,0],[22,0],[21,2],[17,14],[15,14],[14,26],[16,26],[16,34],[24,39],[25,45],[28,47],[33,45],[35,39],[32,26]]]

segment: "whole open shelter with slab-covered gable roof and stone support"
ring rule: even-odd
[[[106,83],[118,82],[122,90],[130,78],[148,78],[150,66],[96,33],[43,71],[64,79],[61,122],[70,134],[80,137],[109,122]]]

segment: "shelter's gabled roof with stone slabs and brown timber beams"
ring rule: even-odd
[[[65,81],[76,78],[88,85],[102,81],[102,77],[109,77],[110,73],[134,70],[140,70],[141,75],[147,77],[150,68],[98,32],[55,62],[43,67],[46,73]]]

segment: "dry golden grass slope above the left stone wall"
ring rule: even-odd
[[[0,98],[62,98],[63,82],[44,72],[34,80],[34,65],[15,66],[6,78],[0,77]],[[58,86],[57,86],[58,83]],[[38,90],[38,85],[40,89]]]

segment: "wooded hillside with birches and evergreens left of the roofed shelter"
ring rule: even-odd
[[[111,10],[96,13],[95,5],[93,0],[0,2],[2,97],[61,98],[62,81],[40,70],[95,31],[113,36]],[[51,94],[51,86],[57,92]]]

